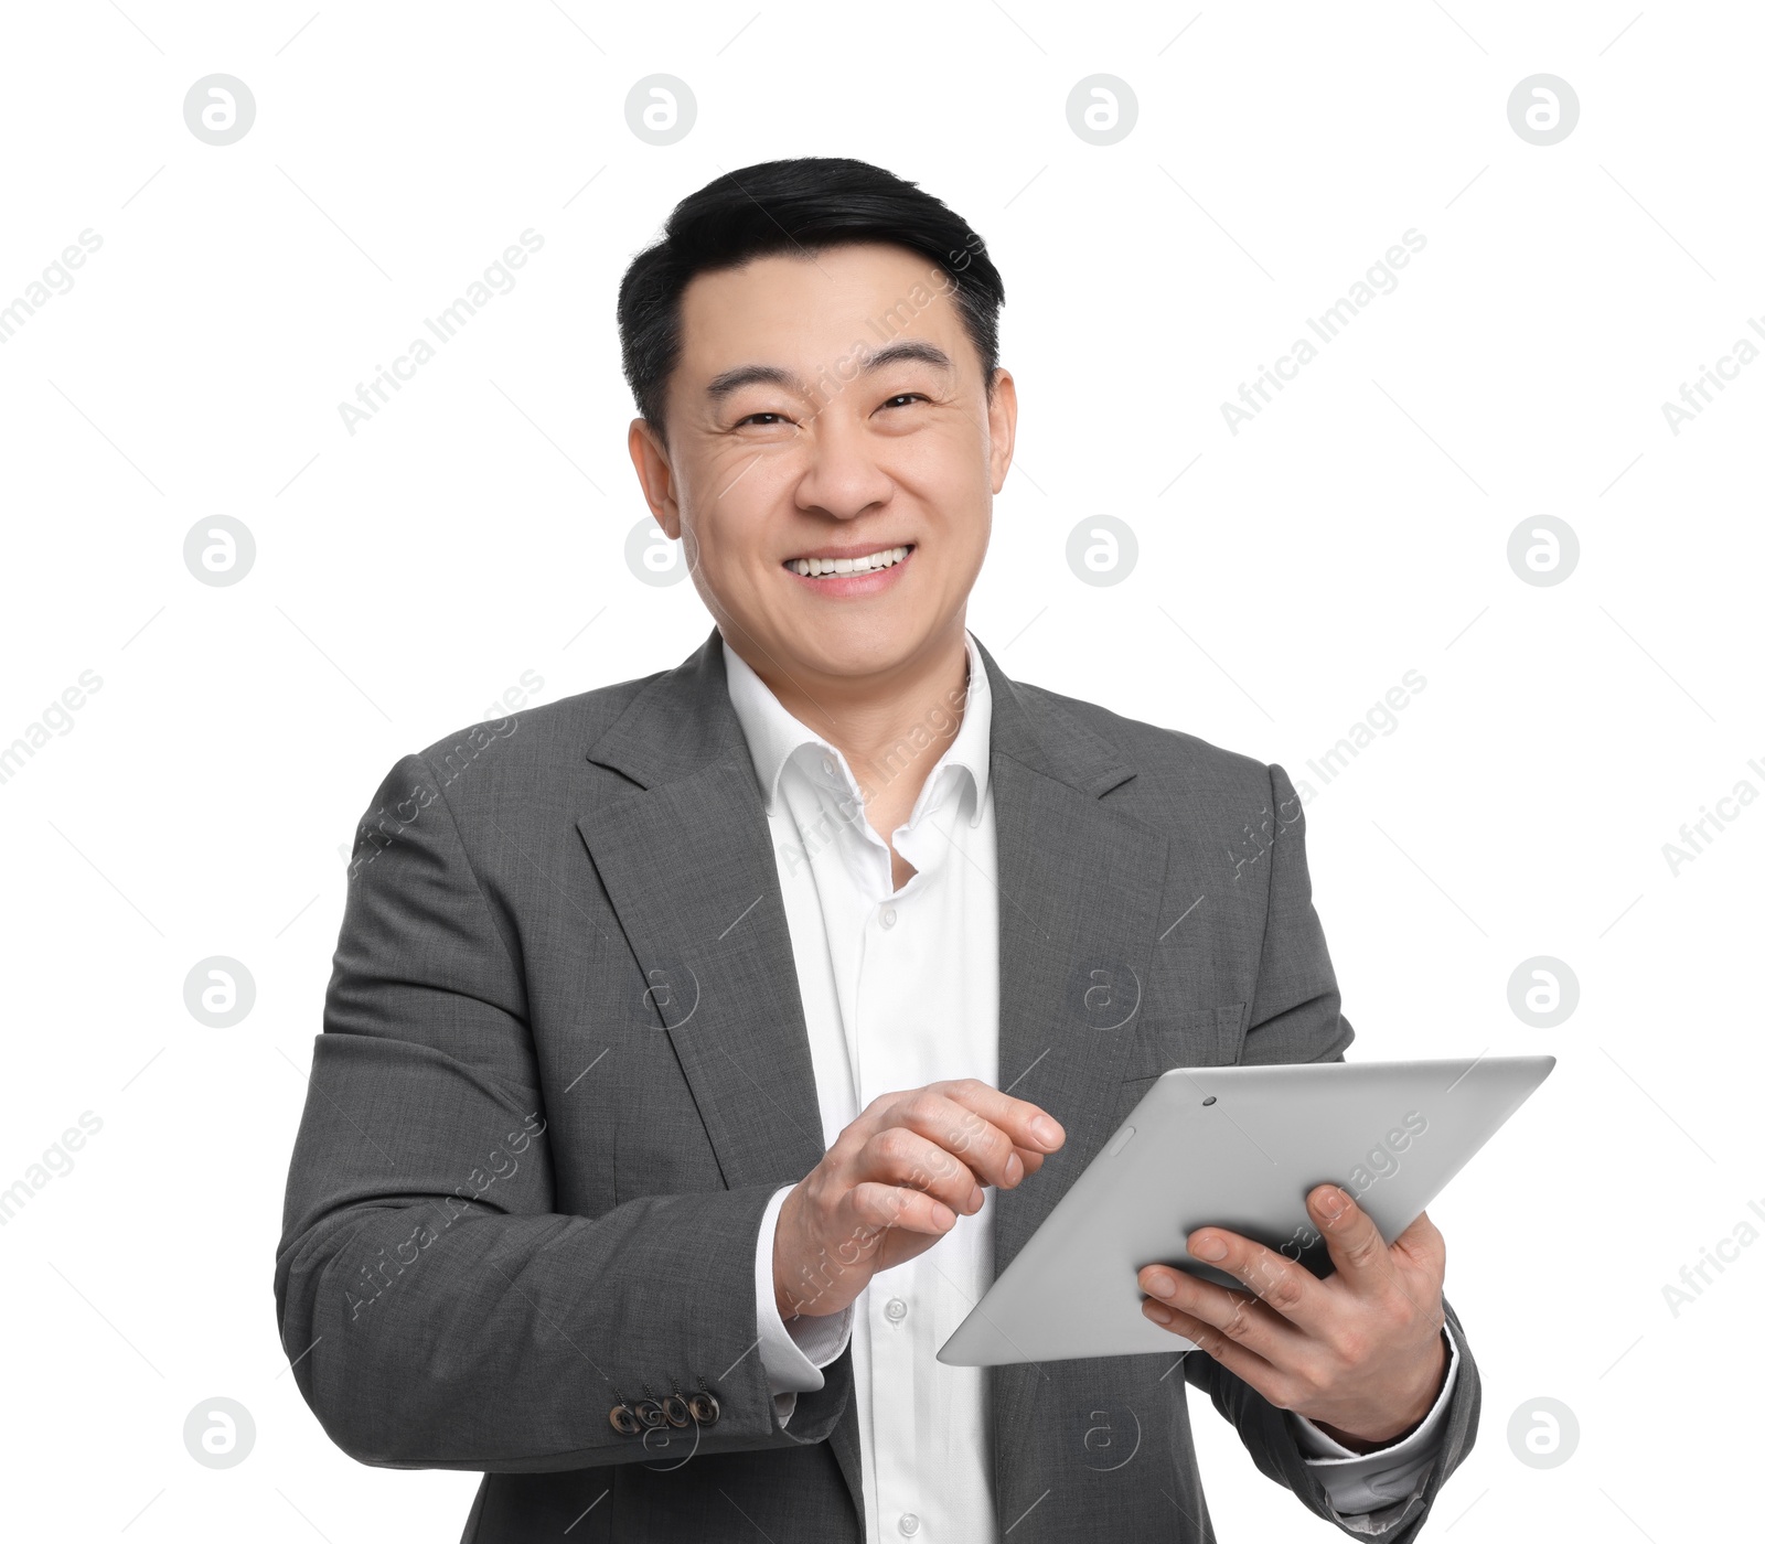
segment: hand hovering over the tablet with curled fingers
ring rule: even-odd
[[[1052,1115],[976,1078],[874,1099],[778,1210],[778,1316],[840,1313],[1063,1142]]]

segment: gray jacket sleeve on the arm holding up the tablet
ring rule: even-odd
[[[1354,1039],[1354,1029],[1341,1016],[1341,993],[1336,990],[1336,972],[1324,946],[1324,926],[1311,905],[1304,808],[1287,773],[1278,766],[1269,768],[1267,812],[1264,829],[1269,835],[1262,854],[1267,861],[1267,923],[1241,1061],[1250,1064],[1341,1061]],[[1285,1412],[1264,1399],[1243,1378],[1205,1355],[1186,1357],[1184,1376],[1207,1392],[1214,1408],[1237,1428],[1257,1468],[1287,1486],[1311,1512],[1356,1537],[1377,1537],[1382,1544],[1410,1544],[1421,1532],[1440,1486],[1463,1463],[1477,1436],[1481,1401],[1477,1364],[1451,1304],[1446,1304],[1446,1318],[1460,1357],[1451,1398],[1440,1412],[1437,1454],[1408,1496],[1373,1512],[1343,1514],[1331,1505],[1318,1470],[1306,1463]]]

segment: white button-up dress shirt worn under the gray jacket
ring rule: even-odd
[[[895,831],[895,851],[916,870],[900,889],[845,757],[792,718],[727,642],[724,663],[771,828],[822,1140],[831,1147],[879,1094],[946,1078],[997,1087],[992,695],[973,637],[962,725]],[[948,734],[946,715],[928,715],[909,741],[923,748],[939,727]],[[937,1360],[992,1285],[992,1198],[918,1258],[877,1272],[844,1313],[784,1323],[773,1233],[789,1191],[771,1198],[754,1255],[759,1355],[780,1422],[789,1422],[800,1392],[822,1387],[821,1369],[851,1341],[867,1537],[997,1539],[983,1369]],[[1435,1458],[1456,1373],[1454,1345],[1428,1419],[1377,1454],[1357,1456],[1310,1420],[1288,1417],[1338,1514],[1378,1510],[1416,1489]]]

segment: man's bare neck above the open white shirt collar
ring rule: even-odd
[[[964,618],[875,676],[787,674],[764,655],[750,658],[741,648],[736,653],[792,718],[845,757],[870,826],[888,840],[962,727],[969,683]]]

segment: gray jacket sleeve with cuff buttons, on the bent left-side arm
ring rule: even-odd
[[[427,761],[401,761],[376,803],[275,1262],[282,1346],[325,1431],[362,1463],[487,1472],[826,1438],[851,1360],[787,1431],[750,1353],[777,1186],[560,1212],[514,926]],[[715,1420],[625,1435],[609,1419],[701,1390]]]

